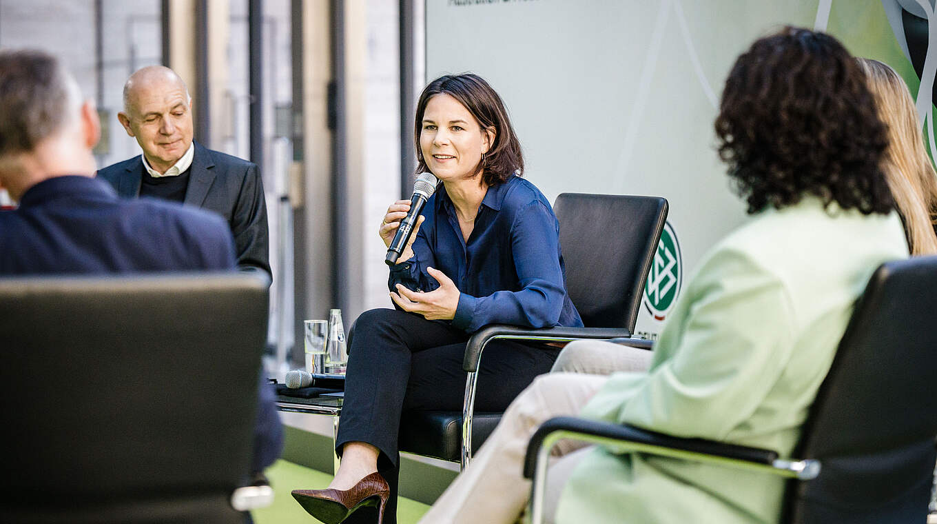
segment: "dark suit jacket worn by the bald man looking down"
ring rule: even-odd
[[[267,205],[257,166],[193,143],[195,157],[183,203],[224,217],[234,235],[238,266],[257,267],[272,275]],[[133,157],[98,170],[97,177],[111,183],[121,197],[135,199],[140,196],[144,172],[142,157]]]

